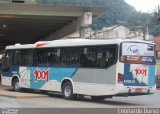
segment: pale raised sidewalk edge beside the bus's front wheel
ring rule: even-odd
[[[20,98],[20,99],[48,97],[48,95],[43,95],[40,92],[27,89],[24,89],[21,92],[14,92],[11,87],[2,86],[1,83],[0,83],[0,96]]]

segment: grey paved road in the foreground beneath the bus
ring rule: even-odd
[[[65,100],[59,94],[21,99],[0,96],[0,114],[129,114],[124,110],[131,110],[131,114],[160,114],[160,90],[152,95],[113,97],[101,102],[93,102],[90,97]]]

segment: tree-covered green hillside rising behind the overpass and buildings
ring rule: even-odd
[[[153,35],[160,35],[160,24],[156,21],[155,11],[153,14],[137,12],[134,7],[124,0],[35,0],[42,4],[65,4],[65,5],[87,5],[106,7],[106,13],[94,20],[92,29],[99,30],[104,26],[113,26],[125,23],[131,30],[149,27]],[[160,14],[160,13],[159,13]],[[145,30],[145,29],[144,29]]]

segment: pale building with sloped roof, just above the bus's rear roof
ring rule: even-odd
[[[152,36],[149,35],[148,27],[146,28],[146,33],[140,29],[139,31],[130,31],[129,28],[125,26],[115,25],[113,27],[104,27],[102,30],[95,33],[92,38],[101,38],[101,39],[138,39],[138,40],[148,40],[152,41]]]

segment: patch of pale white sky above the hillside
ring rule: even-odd
[[[135,7],[137,11],[151,13],[160,5],[160,0],[125,0],[128,4]]]

